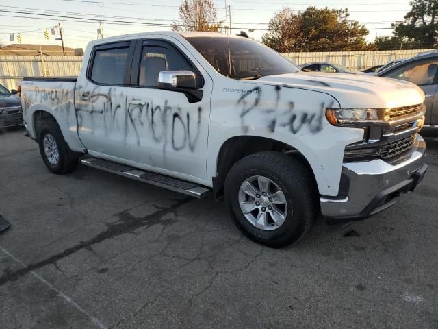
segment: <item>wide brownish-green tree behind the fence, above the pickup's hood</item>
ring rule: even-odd
[[[308,7],[296,13],[284,8],[270,19],[262,41],[280,52],[374,49],[365,40],[368,29],[348,16],[347,9]]]

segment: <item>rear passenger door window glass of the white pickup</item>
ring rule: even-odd
[[[97,50],[91,80],[98,84],[123,84],[129,47]]]

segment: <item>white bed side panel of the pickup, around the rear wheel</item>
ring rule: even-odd
[[[75,85],[73,81],[63,80],[23,80],[21,105],[31,138],[36,138],[36,111],[45,111],[55,117],[70,149],[83,151],[84,147],[77,135]]]

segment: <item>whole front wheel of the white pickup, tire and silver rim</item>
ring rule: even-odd
[[[318,213],[311,173],[279,152],[246,156],[229,171],[225,201],[238,228],[270,247],[294,243]]]

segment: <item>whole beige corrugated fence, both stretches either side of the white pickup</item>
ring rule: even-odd
[[[391,60],[409,58],[431,49],[396,51],[334,51],[315,53],[282,53],[300,65],[309,62],[333,62],[351,70],[386,64]],[[83,56],[0,56],[0,84],[15,89],[23,77],[57,77],[78,75]]]

